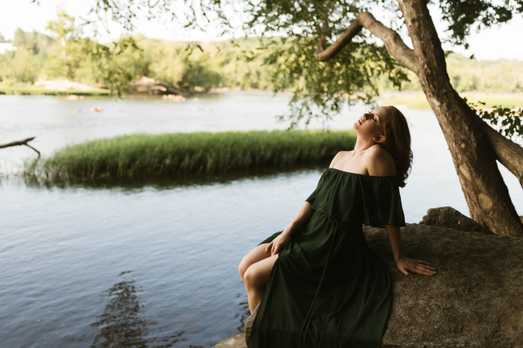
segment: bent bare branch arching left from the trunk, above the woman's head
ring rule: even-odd
[[[385,27],[379,20],[376,20],[368,12],[360,12],[358,17],[350,24],[345,32],[340,36],[331,46],[323,50],[321,47],[314,55],[317,61],[326,61],[349,43],[357,33],[365,28],[369,30],[374,36],[380,38],[385,44],[386,49],[394,58],[396,58],[405,68],[414,71],[416,74],[418,68],[416,59],[414,58],[414,51],[406,46],[400,36],[394,30]]]

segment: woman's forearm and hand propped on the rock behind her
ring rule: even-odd
[[[385,225],[387,234],[389,235],[389,241],[391,242],[392,254],[394,255],[394,261],[399,270],[409,278],[414,276],[409,273],[418,273],[431,276],[436,274],[436,267],[430,266],[430,263],[423,260],[413,260],[405,257],[401,248],[401,231],[399,227]]]

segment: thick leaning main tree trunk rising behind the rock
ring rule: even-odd
[[[425,1],[398,3],[412,39],[419,81],[449,145],[470,216],[497,234],[523,236],[523,223],[481,123],[450,84],[445,55]]]

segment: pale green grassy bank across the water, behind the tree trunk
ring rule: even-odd
[[[523,107],[523,95],[520,96],[503,96],[503,95],[462,95],[466,96],[469,102],[475,103],[481,100],[486,103],[485,108],[492,108],[494,106],[503,106],[508,108]],[[430,109],[430,106],[424,94],[413,95],[411,97],[390,97],[380,99],[382,105],[404,106],[408,109]]]

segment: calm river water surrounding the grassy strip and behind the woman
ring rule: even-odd
[[[288,96],[237,93],[175,103],[161,98],[0,96],[0,143],[37,136],[43,155],[116,134],[286,128]],[[93,106],[103,107],[93,113]],[[80,112],[78,112],[80,110]],[[348,128],[354,107],[331,128]],[[447,145],[431,111],[403,110],[414,167],[401,190],[407,222],[431,207],[468,215]],[[315,126],[318,126],[316,124]],[[13,173],[26,147],[0,150],[0,346],[212,346],[247,316],[237,264],[282,229],[321,171],[176,185],[39,187]],[[523,215],[517,180],[502,169]],[[125,339],[122,339],[125,338]]]

